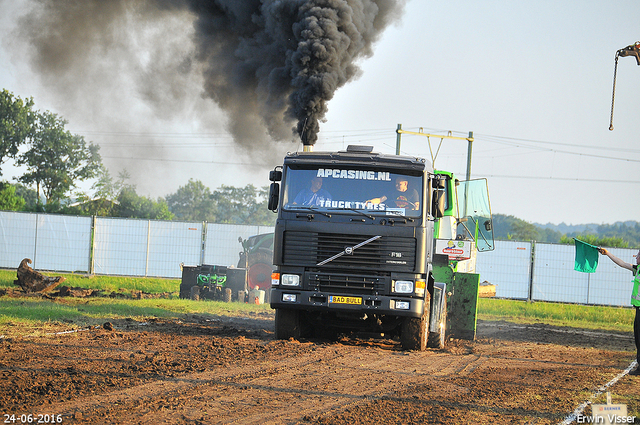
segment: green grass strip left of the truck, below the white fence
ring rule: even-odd
[[[0,335],[34,335],[47,332],[101,325],[106,321],[152,318],[180,319],[186,315],[203,317],[241,316],[272,312],[268,305],[225,303],[220,301],[191,301],[178,298],[180,279],[136,278],[126,276],[91,276],[83,274],[43,273],[64,276],[62,285],[98,289],[105,293],[130,294],[143,291],[165,294],[164,298],[123,299],[110,297],[73,298],[55,300],[33,297],[0,297]],[[15,270],[0,270],[0,289],[19,289],[13,284]],[[166,296],[166,294],[169,294]]]

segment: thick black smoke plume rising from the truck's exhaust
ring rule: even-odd
[[[254,149],[269,140],[313,145],[327,102],[359,75],[358,61],[372,55],[373,43],[400,17],[405,1],[31,0],[21,25],[37,72],[69,87],[78,79],[102,81],[87,75],[88,58],[100,58],[103,76],[126,67],[110,56],[136,43],[126,39],[126,25],[157,29],[180,16],[191,46],[175,46],[176,26],[167,27],[145,53],[136,90],[170,114],[167,99],[188,102],[175,81],[198,72],[204,97],[224,111],[234,140]],[[176,57],[179,66],[153,63]]]

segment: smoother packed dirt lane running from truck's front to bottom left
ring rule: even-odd
[[[62,414],[68,420],[117,415],[119,423],[175,422],[179,417],[185,422],[290,422],[391,395],[432,377],[465,373],[477,360],[476,355],[444,352],[317,346],[298,357],[159,379],[48,405],[36,414]]]

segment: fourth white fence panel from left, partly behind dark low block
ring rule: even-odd
[[[151,221],[146,276],[180,277],[180,263],[195,264],[202,252],[202,222]]]

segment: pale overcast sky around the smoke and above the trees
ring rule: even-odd
[[[15,25],[29,7],[0,0],[0,88],[66,118],[72,132],[101,145],[113,175],[132,175],[139,194],[165,196],[190,178],[212,190],[264,186],[277,158],[301,148],[242,155],[210,100],[150,108],[122,66],[91,78],[81,101],[61,99],[56,82],[40,78],[16,49]],[[554,224],[640,221],[640,66],[631,57],[619,61],[609,131],[614,57],[640,40],[637,10],[637,0],[409,0],[373,57],[359,63],[360,78],[329,102],[315,150],[360,143],[394,153],[398,124],[459,137],[471,131],[472,178],[488,179],[494,214]],[[189,29],[176,37],[188,42]],[[91,104],[94,91],[118,102]],[[440,140],[403,135],[401,151],[428,159],[437,151],[437,169],[464,177],[467,142]],[[9,164],[2,171],[8,180],[18,175]]]

